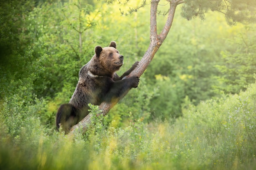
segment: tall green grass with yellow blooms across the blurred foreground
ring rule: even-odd
[[[12,137],[1,123],[0,169],[254,170],[255,105],[253,84],[239,95],[186,104],[173,121],[114,128],[101,117],[85,135],[45,135],[36,126]]]

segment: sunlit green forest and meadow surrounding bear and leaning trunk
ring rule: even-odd
[[[117,42],[124,55],[119,75],[144,55],[150,5],[121,15],[136,3],[0,2],[0,167],[256,167],[256,27],[229,26],[212,11],[188,20],[178,7],[139,87],[107,117],[94,117],[86,134],[55,131],[56,110],[69,102],[95,46]],[[168,2],[160,4],[168,9]],[[162,27],[166,16],[157,19]]]

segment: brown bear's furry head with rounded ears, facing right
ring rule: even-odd
[[[108,47],[95,47],[94,57],[99,62],[98,69],[102,69],[106,75],[112,75],[124,64],[124,56],[120,55],[116,48],[117,44],[115,41],[112,41]]]

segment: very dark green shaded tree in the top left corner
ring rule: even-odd
[[[25,31],[25,18],[34,8],[33,0],[0,1],[0,68],[16,72],[22,70],[22,65],[13,53],[24,55],[27,41],[20,38]],[[22,76],[22,74],[17,75]]]

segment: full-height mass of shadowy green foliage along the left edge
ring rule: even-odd
[[[34,57],[34,51],[27,51],[28,42],[22,37],[25,18],[33,7],[32,0],[4,1],[0,6],[0,22],[4,23],[0,28],[0,127],[3,137],[15,137],[19,144],[24,133],[29,134],[33,143],[43,128],[38,117],[45,108],[45,100],[34,95],[33,86],[49,56]]]

